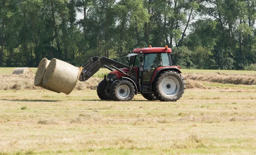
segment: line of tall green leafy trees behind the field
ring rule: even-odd
[[[0,66],[79,66],[164,47],[191,69],[256,69],[256,0],[1,0]],[[82,19],[77,14],[83,15]]]

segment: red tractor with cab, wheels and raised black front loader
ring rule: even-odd
[[[167,46],[134,49],[126,55],[129,65],[107,57],[93,57],[82,67],[80,81],[86,81],[102,66],[111,70],[97,87],[102,100],[131,100],[142,94],[147,100],[176,101],[182,97],[185,81],[180,66],[172,66],[172,49]]]

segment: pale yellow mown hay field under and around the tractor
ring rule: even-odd
[[[187,72],[190,87],[177,102],[141,95],[118,102],[99,100],[100,78],[65,95],[33,87],[33,75],[1,71],[9,89],[0,89],[0,154],[256,154],[253,83],[212,82],[211,71]],[[250,80],[256,74],[216,74],[227,73]]]

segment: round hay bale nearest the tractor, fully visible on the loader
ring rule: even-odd
[[[78,67],[54,58],[44,73],[43,84],[68,95],[75,88],[79,75]]]

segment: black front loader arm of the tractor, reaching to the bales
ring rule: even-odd
[[[120,68],[129,68],[129,66],[119,63],[115,60],[112,60],[108,57],[93,57],[86,63],[84,63],[83,70],[81,72],[81,75],[79,77],[80,81],[86,81],[90,77],[92,77],[96,72],[99,71],[99,69],[104,66],[105,68],[113,71],[114,69],[118,70],[119,72],[123,71]],[[114,69],[112,69],[114,68]]]

